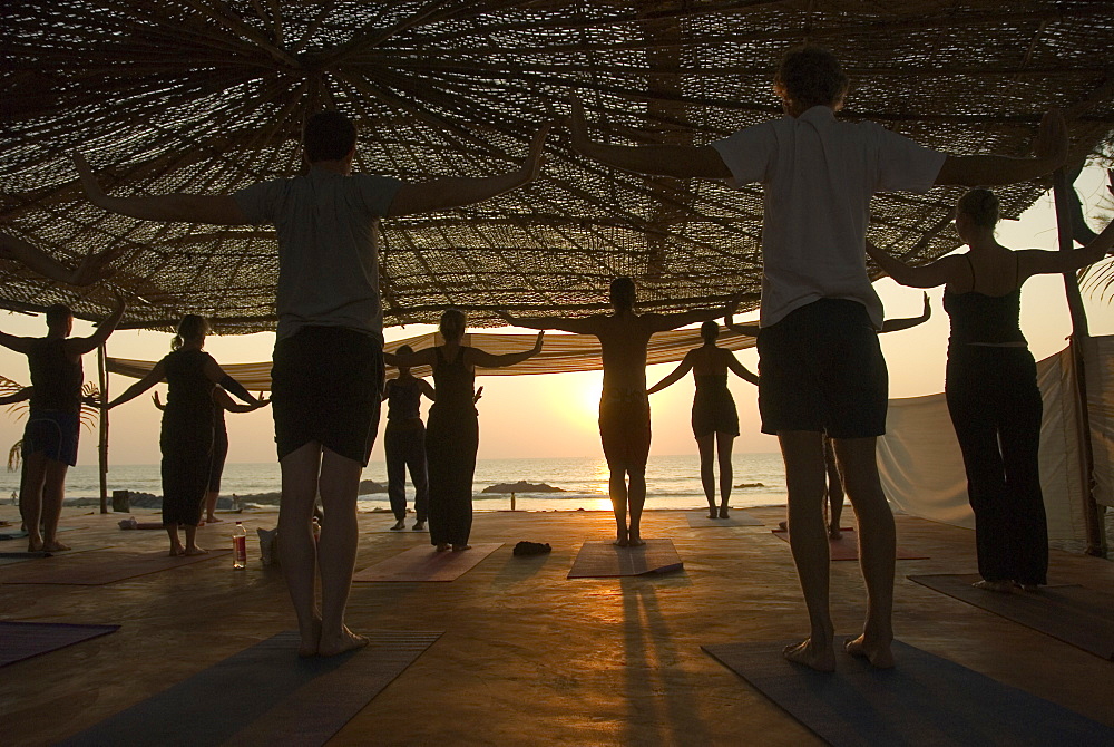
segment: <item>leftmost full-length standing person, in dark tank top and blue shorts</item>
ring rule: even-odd
[[[66,472],[77,464],[85,382],[81,356],[108,339],[124,318],[125,308],[124,299],[117,294],[113,313],[89,337],[70,337],[74,312],[61,303],[47,309],[46,337],[0,332],[0,345],[27,356],[31,373],[19,496],[29,552],[69,550],[56,535],[66,497]]]

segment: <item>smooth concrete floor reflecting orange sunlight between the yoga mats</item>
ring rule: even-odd
[[[789,545],[769,531],[782,510],[750,513],[768,526],[691,530],[683,512],[648,512],[644,534],[671,537],[685,569],[623,580],[565,578],[584,540],[612,533],[608,513],[478,514],[473,541],[507,544],[457,581],[353,590],[356,631],[446,632],[330,744],[820,744],[700,650],[807,629]],[[0,507],[0,518],[14,515]],[[75,547],[164,546],[162,532],[121,532],[119,518],[67,510],[63,525],[85,528],[62,537]],[[897,520],[899,542],[931,555],[898,561],[901,640],[1114,726],[1114,664],[908,581],[971,572],[974,535]],[[246,517],[251,534],[274,521]],[[428,542],[379,531],[391,521],[361,515],[358,569]],[[201,530],[199,542],[227,546],[229,526]],[[549,542],[554,552],[514,557],[519,540]],[[261,567],[254,537],[248,546],[246,571],[224,557],[104,586],[0,586],[3,619],[123,625],[0,669],[0,743],[52,744],[291,629],[282,579]],[[1054,551],[1052,566],[1058,580],[1114,589],[1114,563]],[[863,612],[857,563],[832,564],[832,599],[837,630],[854,630]]]

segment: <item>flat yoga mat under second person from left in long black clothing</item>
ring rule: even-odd
[[[67,553],[46,557],[33,563],[19,563],[0,567],[0,584],[3,583],[59,583],[78,586],[100,586],[106,583],[133,579],[148,573],[157,573],[192,565],[204,561],[226,557],[229,550],[214,550],[204,555],[170,557],[165,552],[119,553],[98,551],[80,555]]]

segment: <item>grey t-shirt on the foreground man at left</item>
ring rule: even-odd
[[[379,219],[402,182],[310,168],[234,193],[248,223],[278,232],[278,339],[303,327],[344,327],[383,342]]]

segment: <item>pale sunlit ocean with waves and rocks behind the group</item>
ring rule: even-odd
[[[785,502],[785,473],[780,454],[735,454],[732,458],[733,485],[746,485],[732,491],[733,506],[775,505]],[[387,483],[387,465],[372,462],[363,470],[363,479]],[[602,457],[539,458],[539,459],[479,459],[472,483],[476,511],[506,511],[510,496],[482,493],[485,487],[499,483],[546,483],[563,493],[516,494],[519,511],[576,511],[584,508],[609,510],[607,498],[607,466]],[[69,469],[66,498],[96,498],[100,495],[96,465],[78,465]],[[14,495],[19,488],[19,474],[0,474],[0,496]],[[162,495],[157,464],[113,465],[108,473],[109,495],[114,489]],[[221,495],[251,496],[276,493],[280,489],[276,463],[228,464],[225,466]],[[407,497],[413,507],[413,489],[407,485]],[[245,503],[250,503],[247,498]],[[646,468],[646,507],[700,508],[706,506],[700,482],[700,457],[696,455],[652,456]],[[385,493],[360,496],[360,510],[387,510]]]

